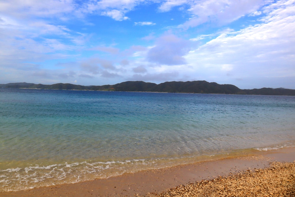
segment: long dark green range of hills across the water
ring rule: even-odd
[[[160,84],[127,81],[114,85],[82,86],[75,84],[34,84],[34,83],[8,83],[0,84],[2,88],[29,88],[29,89],[66,89],[66,90],[100,90],[124,92],[171,92],[171,93],[204,93],[204,94],[237,94],[237,95],[289,95],[295,96],[295,89],[261,88],[240,89],[231,84],[217,84],[207,81],[164,82]]]

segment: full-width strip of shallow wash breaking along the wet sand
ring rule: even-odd
[[[294,145],[295,146],[295,145]],[[289,145],[255,148],[258,151],[268,151]],[[176,157],[157,157],[150,159],[122,159],[117,161],[83,161],[64,162],[53,165],[31,165],[28,167],[0,170],[0,191],[19,191],[42,186],[64,183],[77,183],[97,178],[109,178],[126,172],[134,173],[140,170],[160,169],[181,164],[208,161],[236,155],[247,154],[253,149],[223,151],[219,154],[186,155]],[[213,153],[213,152],[212,152]]]

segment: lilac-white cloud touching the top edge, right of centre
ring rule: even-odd
[[[270,2],[270,0],[167,0],[161,3],[159,10],[168,12],[173,7],[183,6],[182,9],[191,16],[180,27],[187,29],[206,22],[223,25],[247,14],[257,16],[261,14],[258,9]]]

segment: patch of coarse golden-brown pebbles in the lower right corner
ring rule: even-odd
[[[269,168],[249,169],[228,177],[180,185],[160,194],[151,193],[150,196],[295,197],[295,161],[273,162]]]

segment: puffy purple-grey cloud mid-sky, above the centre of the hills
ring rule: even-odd
[[[148,51],[147,59],[151,62],[166,65],[186,64],[183,57],[190,50],[187,40],[173,34],[165,34],[157,39],[155,46]]]

